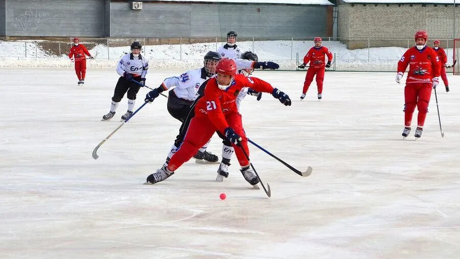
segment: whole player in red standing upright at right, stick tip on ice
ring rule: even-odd
[[[438,54],[433,49],[426,47],[427,38],[428,34],[425,31],[418,31],[415,34],[416,46],[408,49],[398,62],[397,83],[400,83],[404,71],[409,66],[406,87],[404,88],[405,127],[402,133],[404,138],[410,133],[412,114],[416,106],[419,110],[419,115],[417,117],[415,137],[420,138],[422,136],[431,89],[439,85],[441,64]]]

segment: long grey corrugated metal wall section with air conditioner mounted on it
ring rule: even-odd
[[[326,35],[327,7],[262,4],[111,2],[111,37],[206,37],[235,30],[243,37]]]

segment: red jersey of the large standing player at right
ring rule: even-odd
[[[441,73],[439,57],[428,47],[422,50],[418,50],[417,47],[408,49],[398,62],[398,72],[404,73],[407,66],[409,72],[406,83],[432,82],[433,77],[438,77]]]

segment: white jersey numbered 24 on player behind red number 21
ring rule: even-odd
[[[252,60],[236,59],[237,69],[250,69],[252,68]],[[179,76],[168,77],[163,80],[163,88],[168,90],[174,88],[174,93],[181,99],[193,101],[196,99],[196,92],[200,88],[200,85],[208,80],[206,71],[204,68],[187,71]],[[247,92],[247,90],[246,90]]]

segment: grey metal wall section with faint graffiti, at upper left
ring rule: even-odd
[[[6,0],[8,36],[104,36],[104,0]]]

